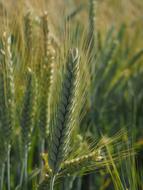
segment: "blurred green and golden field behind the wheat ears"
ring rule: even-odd
[[[129,150],[135,148],[136,152],[136,155],[132,155],[129,151],[129,157],[120,160],[117,165],[112,159],[112,154],[109,154],[111,167],[107,165],[106,170],[97,169],[91,174],[81,170],[80,175],[75,174],[61,180],[56,189],[143,189],[143,0],[93,1],[95,1],[94,23],[90,18],[92,0],[0,1],[0,34],[7,30],[12,35],[14,55],[17,116],[11,153],[12,189],[18,181],[18,175],[15,176],[14,173],[17,170],[19,172],[19,167],[17,169],[14,161],[22,160],[20,146],[17,144],[21,143],[19,118],[26,84],[25,72],[30,66],[37,80],[40,80],[44,68],[41,58],[44,42],[40,19],[45,11],[48,13],[48,27],[54,39],[52,45],[55,52],[62,57],[66,48],[77,46],[81,53],[83,72],[86,71],[83,83],[87,85],[88,92],[82,108],[83,115],[79,119],[79,136],[77,137],[77,134],[73,136],[75,146],[79,142],[82,146],[84,140],[89,144],[98,141],[104,135],[114,138],[116,132],[126,131],[123,132],[119,145]],[[30,13],[30,17],[27,17],[27,13]],[[32,37],[29,35],[30,38],[27,38],[29,33],[25,31],[25,18],[29,19],[28,27],[30,35],[32,34]],[[27,45],[29,42],[30,48]],[[28,51],[26,48],[29,48]],[[55,58],[55,62],[59,60],[64,58]],[[60,66],[57,65],[55,67],[59,69]],[[38,119],[36,117],[34,119],[36,123]],[[32,148],[29,153],[29,173],[39,167],[41,158],[38,152],[39,144],[36,143],[36,139],[39,142],[41,136],[38,135],[37,124],[34,127]],[[119,136],[117,135],[117,139]],[[45,139],[47,140],[47,137]],[[120,158],[120,148],[117,152]],[[36,179],[39,175],[35,174],[35,177],[34,174],[33,176],[31,174],[32,182],[29,182],[29,188],[33,189],[37,185]],[[44,183],[45,181],[42,185]],[[7,189],[6,186],[4,190]]]

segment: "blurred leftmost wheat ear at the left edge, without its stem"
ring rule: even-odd
[[[11,54],[11,38],[3,34],[0,52],[0,109],[1,124],[7,144],[10,144],[14,127],[14,79]]]

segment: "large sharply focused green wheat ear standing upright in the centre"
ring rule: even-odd
[[[55,176],[65,160],[69,149],[72,129],[70,128],[70,114],[75,92],[75,79],[78,68],[78,50],[71,49],[68,54],[66,69],[63,77],[60,100],[55,123],[50,126],[49,166]]]

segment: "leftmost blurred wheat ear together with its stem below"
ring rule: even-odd
[[[10,189],[10,149],[15,125],[15,99],[11,37],[3,33],[0,52],[0,138],[3,164],[7,157],[7,184]],[[7,156],[6,156],[7,152]],[[1,164],[1,163],[0,163]],[[4,172],[4,170],[3,170]]]

